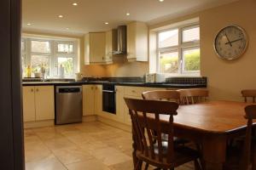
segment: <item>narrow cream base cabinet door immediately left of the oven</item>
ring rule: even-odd
[[[95,107],[96,115],[102,114],[102,85],[95,86]]]

